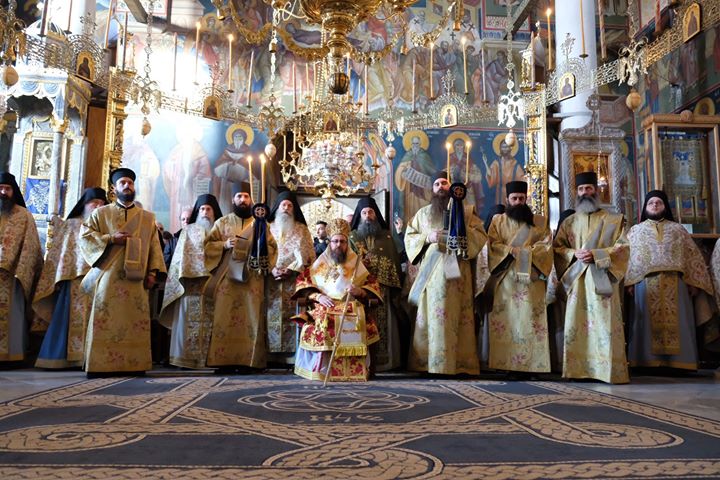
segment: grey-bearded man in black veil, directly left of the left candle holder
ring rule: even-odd
[[[205,368],[213,321],[213,299],[205,287],[213,265],[205,255],[205,240],[222,217],[214,195],[200,195],[173,253],[160,323],[170,329],[170,364]]]

